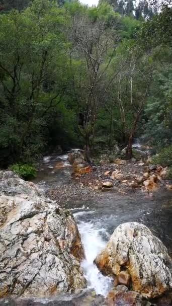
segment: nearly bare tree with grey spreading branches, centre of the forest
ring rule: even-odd
[[[109,11],[109,14],[105,15],[105,11]],[[93,8],[88,13],[86,16],[74,15],[73,18],[71,69],[73,60],[81,58],[78,75],[73,73],[72,79],[80,116],[78,130],[84,139],[85,155],[90,162],[97,114],[104,97],[105,78],[119,38],[113,30],[118,25],[118,18],[115,18],[110,7],[101,5],[98,10]]]

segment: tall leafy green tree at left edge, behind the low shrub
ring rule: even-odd
[[[42,150],[46,114],[64,96],[62,13],[56,5],[37,0],[22,14],[1,16],[0,145],[11,159],[27,160]]]

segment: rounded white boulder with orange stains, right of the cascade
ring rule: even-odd
[[[105,275],[126,270],[131,288],[153,298],[172,288],[172,260],[162,242],[143,224],[119,225],[95,263]]]

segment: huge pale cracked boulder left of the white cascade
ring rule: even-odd
[[[12,172],[0,178],[0,297],[83,288],[84,253],[70,212]]]

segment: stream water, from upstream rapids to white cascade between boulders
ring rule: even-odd
[[[72,168],[68,155],[44,157],[34,183],[45,192],[65,184],[71,184]],[[63,167],[58,167],[63,162]],[[138,221],[147,225],[168,248],[172,255],[172,201],[171,192],[159,189],[150,197],[141,191],[117,194],[108,191],[102,197],[81,198],[63,204],[69,209],[78,224],[81,241],[85,251],[82,267],[88,288],[97,294],[105,295],[111,287],[111,278],[103,276],[93,260],[109,240],[114,229],[123,222]]]

